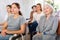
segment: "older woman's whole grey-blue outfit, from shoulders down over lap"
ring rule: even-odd
[[[56,30],[58,27],[58,18],[53,15],[46,20],[46,16],[41,17],[40,22],[36,28],[37,32],[41,32],[41,35],[34,35],[33,40],[55,40]]]

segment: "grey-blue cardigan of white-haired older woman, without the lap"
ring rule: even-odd
[[[58,27],[58,18],[53,15],[46,21],[46,17],[43,16],[40,19],[39,25],[36,29],[37,32],[45,32],[46,34],[55,34]]]

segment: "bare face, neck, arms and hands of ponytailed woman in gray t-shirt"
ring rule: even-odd
[[[19,10],[20,9],[18,9],[17,8],[17,6],[15,5],[15,4],[13,4],[12,5],[12,13],[14,13],[14,18],[16,19],[16,18],[18,18],[19,17]],[[2,35],[3,36],[6,36],[6,33],[8,33],[8,34],[22,34],[22,33],[24,33],[24,31],[25,31],[25,24],[22,24],[21,26],[20,26],[20,30],[17,30],[17,31],[10,31],[10,30],[7,30],[6,28],[7,28],[7,25],[8,25],[8,23],[7,22],[5,22],[4,23],[4,25],[3,25],[3,30],[2,30]]]

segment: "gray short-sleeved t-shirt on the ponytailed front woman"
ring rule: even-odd
[[[19,16],[18,18],[14,19],[13,16],[8,18],[8,27],[7,30],[19,30],[20,26],[26,23],[26,20],[23,16]]]

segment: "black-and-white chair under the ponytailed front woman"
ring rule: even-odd
[[[27,21],[29,20],[29,18],[26,19]],[[21,34],[21,35],[17,35],[17,34],[14,34],[13,36],[11,36],[9,38],[9,40],[20,40],[18,38],[21,38],[21,40],[26,40],[26,35],[28,34],[28,27],[26,27],[26,30],[25,30],[25,33],[24,34]]]

